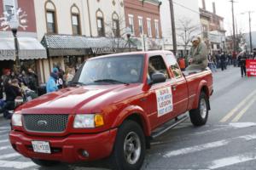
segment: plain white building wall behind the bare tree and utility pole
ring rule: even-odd
[[[160,7],[161,23],[164,38],[164,48],[173,50],[172,45],[172,23],[169,0],[161,0]],[[173,1],[174,20],[177,38],[177,55],[188,54],[191,47],[191,38],[201,37],[201,22],[197,0],[176,0]]]

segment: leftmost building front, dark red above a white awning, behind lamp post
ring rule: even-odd
[[[20,44],[21,70],[27,71],[28,68],[32,68],[32,70],[39,72],[40,59],[46,58],[46,51],[36,39],[38,34],[34,0],[0,0],[0,68],[1,70],[14,69],[15,42],[9,27],[10,21],[13,20],[14,11],[20,11],[19,16],[22,19],[17,20],[20,24],[17,37]]]

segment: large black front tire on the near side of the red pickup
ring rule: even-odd
[[[131,137],[129,139],[129,137]],[[132,140],[134,139],[134,141]],[[133,142],[128,142],[132,140]],[[126,144],[125,144],[126,143]],[[129,143],[129,144],[128,144]],[[139,144],[141,150],[139,149]],[[129,150],[130,149],[130,150]],[[131,151],[134,150],[134,151]],[[137,122],[134,121],[125,121],[119,127],[116,141],[113,146],[113,153],[111,156],[111,167],[116,170],[137,170],[143,166],[143,161],[145,157],[145,136],[142,130],[142,127],[138,125]],[[125,156],[125,154],[131,153],[131,158],[129,156]],[[134,162],[131,162],[134,159]],[[130,161],[130,162],[129,162]]]

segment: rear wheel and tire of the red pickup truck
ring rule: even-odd
[[[207,123],[209,112],[208,102],[207,95],[201,92],[197,108],[189,111],[190,121],[194,126],[198,127]]]

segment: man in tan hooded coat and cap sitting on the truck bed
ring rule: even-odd
[[[200,37],[194,37],[189,52],[189,66],[186,71],[205,70],[208,65],[207,54],[207,45],[204,42],[201,42]]]

